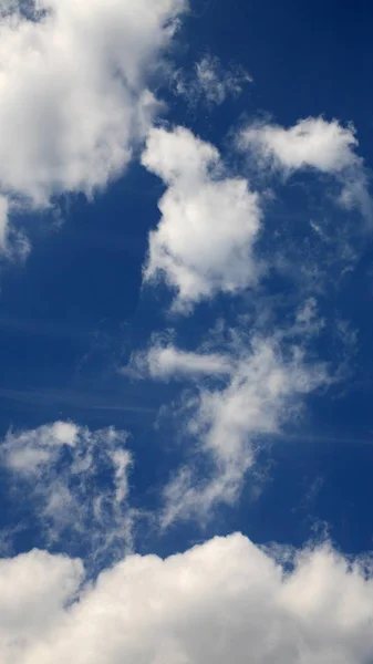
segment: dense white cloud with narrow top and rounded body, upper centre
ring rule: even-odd
[[[142,160],[167,185],[162,219],[149,235],[145,280],[164,277],[177,291],[179,311],[253,284],[261,215],[248,183],[225,177],[218,151],[183,127],[153,128]]]

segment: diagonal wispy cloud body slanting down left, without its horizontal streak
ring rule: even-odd
[[[165,488],[164,528],[178,518],[204,521],[217,505],[234,504],[260,438],[279,433],[298,412],[301,397],[329,380],[323,365],[307,362],[301,346],[284,349],[281,335],[283,331],[278,338],[253,338],[251,350],[241,344],[226,386],[200,386],[188,397],[186,426],[196,440],[194,455],[205,456],[209,470],[203,464],[199,476],[191,457],[174,474]]]

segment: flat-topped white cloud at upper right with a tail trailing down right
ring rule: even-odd
[[[239,145],[250,149],[262,166],[281,170],[286,176],[299,169],[313,168],[333,175],[341,181],[339,203],[358,206],[369,218],[372,205],[363,159],[356,155],[359,145],[352,125],[322,117],[300,120],[292,127],[276,124],[253,124],[240,134]]]

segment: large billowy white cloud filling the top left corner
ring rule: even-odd
[[[90,196],[147,131],[145,74],[184,0],[39,0],[32,20],[17,7],[0,11],[0,193]]]

